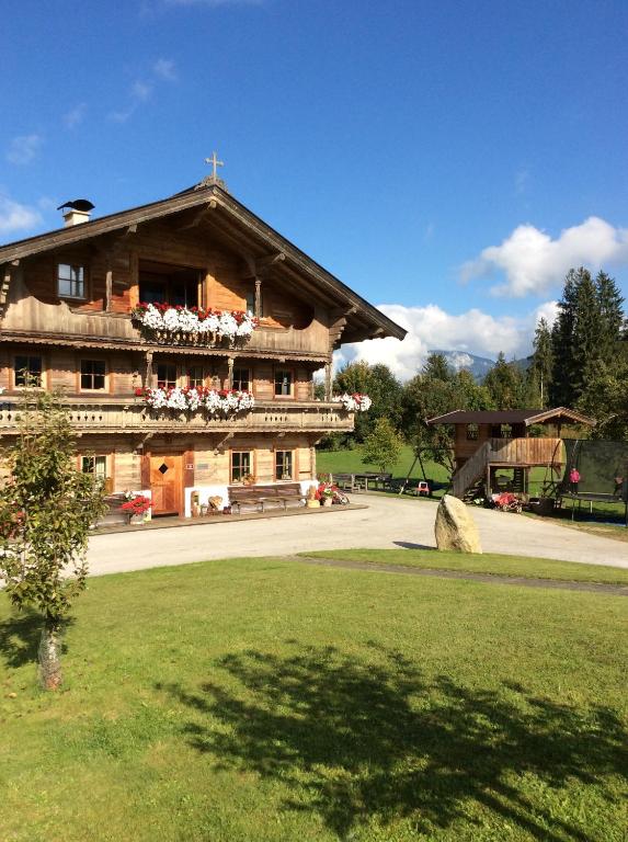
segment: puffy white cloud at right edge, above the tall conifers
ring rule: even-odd
[[[503,272],[505,283],[491,292],[522,297],[541,294],[561,283],[572,266],[596,270],[608,263],[628,263],[628,229],[590,216],[553,240],[533,225],[519,225],[501,246],[490,246],[479,258],[465,263],[460,276],[469,281]]]

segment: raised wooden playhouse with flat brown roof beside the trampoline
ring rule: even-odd
[[[528,500],[533,468],[546,469],[544,486],[548,489],[558,490],[561,486],[568,464],[561,439],[562,428],[566,424],[593,426],[595,422],[580,412],[558,407],[547,410],[458,409],[429,419],[427,424],[452,424],[455,428],[456,470],[450,491],[455,497],[472,500],[510,491]],[[538,435],[544,428],[551,428],[556,434]],[[504,469],[512,471],[512,478],[504,476]]]

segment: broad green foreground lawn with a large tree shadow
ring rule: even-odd
[[[627,608],[273,558],[109,576],[46,695],[0,594],[0,839],[625,842]]]

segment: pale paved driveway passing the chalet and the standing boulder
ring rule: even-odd
[[[302,517],[218,520],[207,525],[94,535],[92,573],[185,565],[210,558],[286,556],[316,549],[433,547],[436,503],[378,494],[354,496],[368,509]],[[517,514],[475,509],[486,553],[628,568],[628,544]]]

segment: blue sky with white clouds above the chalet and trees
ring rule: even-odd
[[[198,181],[410,329],[529,350],[567,269],[628,295],[626,2],[5,3],[0,241]]]

